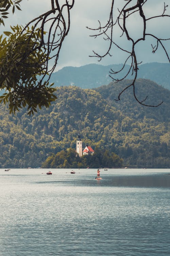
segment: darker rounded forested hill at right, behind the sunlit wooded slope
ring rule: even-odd
[[[145,117],[150,119],[153,118],[158,122],[169,122],[170,91],[153,81],[138,79],[136,81],[135,93],[140,101],[147,98],[143,103],[148,105],[158,105],[163,101],[160,106],[153,108],[137,103],[133,96],[133,87],[128,88],[122,93],[120,96],[121,100],[115,101],[115,99],[118,99],[121,90],[131,83],[132,80],[123,80],[118,83],[110,83],[108,85],[100,86],[95,90],[102,95],[109,105],[116,107],[117,110],[120,110],[123,114],[129,117],[138,120]]]

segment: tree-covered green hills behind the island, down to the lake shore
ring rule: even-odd
[[[0,168],[40,167],[46,158],[75,148],[80,130],[83,147],[103,148],[123,158],[123,166],[170,167],[170,91],[149,81],[137,81],[137,94],[147,108],[134,101],[130,89],[121,101],[114,99],[124,84],[95,90],[58,87],[58,99],[49,109],[29,117],[25,110],[9,115],[0,105]]]

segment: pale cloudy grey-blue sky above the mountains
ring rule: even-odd
[[[63,0],[60,0],[62,2]],[[170,14],[170,0],[164,0],[167,7],[167,13]],[[155,14],[162,14],[164,9],[164,1],[162,0],[148,0],[146,8],[144,9],[147,17]],[[9,31],[10,25],[25,25],[33,18],[37,17],[41,13],[46,12],[50,9],[50,0],[23,0],[20,3],[22,11],[16,11],[14,15],[10,15],[8,19],[5,19],[5,28],[0,27],[0,33],[3,31]],[[134,3],[137,0],[133,1]],[[65,39],[60,56],[58,59],[58,64],[56,70],[59,70],[66,66],[80,67],[89,63],[96,63],[101,65],[111,65],[123,63],[126,59],[126,55],[119,51],[116,47],[112,47],[111,54],[112,57],[106,56],[100,62],[97,58],[89,57],[92,55],[92,51],[103,54],[107,48],[108,41],[103,40],[103,38],[92,38],[89,35],[92,35],[92,31],[88,30],[86,26],[91,28],[97,28],[101,21],[101,24],[107,22],[111,0],[75,0],[73,9],[70,11],[71,16],[71,27],[67,38]],[[117,14],[117,7],[122,8],[123,4],[126,2],[124,0],[115,0],[115,12]],[[116,16],[115,16],[116,17]],[[170,38],[169,30],[170,18],[161,18],[156,19],[154,22],[148,23],[147,32],[154,32],[156,35],[161,38]],[[131,31],[131,35],[137,39],[141,37],[141,20],[135,14],[133,18],[129,20],[127,26]],[[125,39],[125,37],[120,37],[121,33],[118,28],[114,29],[114,39],[122,47],[129,49],[130,42]],[[170,41],[165,42],[168,53],[170,54]],[[147,63],[147,62],[168,62],[165,53],[161,48],[155,53],[152,54],[152,45],[155,45],[156,42],[151,37],[145,41],[142,41],[137,47],[137,58],[138,62]]]

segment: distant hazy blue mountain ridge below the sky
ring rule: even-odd
[[[75,85],[81,88],[96,88],[112,82],[109,71],[118,71],[122,64],[97,65],[88,64],[81,67],[64,67],[51,76],[50,82],[54,86]],[[130,66],[126,65],[121,73],[116,74],[116,79],[124,77]],[[127,77],[132,79],[131,74]],[[149,79],[170,90],[170,64],[169,63],[146,63],[139,65],[138,78]]]

